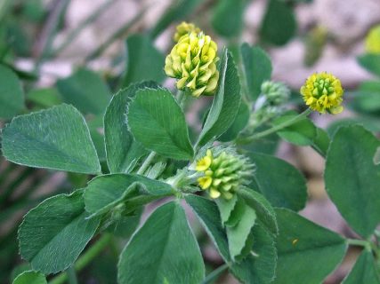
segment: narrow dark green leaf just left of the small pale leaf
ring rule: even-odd
[[[224,261],[229,263],[230,252],[227,235],[222,228],[222,221],[216,204],[197,195],[186,195],[185,200],[199,218]]]

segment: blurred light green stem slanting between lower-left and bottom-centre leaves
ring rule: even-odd
[[[112,240],[112,235],[107,233],[104,234],[99,241],[97,241],[93,247],[88,248],[83,256],[80,256],[74,264],[74,269],[76,272],[80,272],[85,266],[93,261],[93,258],[98,256],[101,251],[109,245],[109,241]],[[53,280],[49,281],[49,284],[63,284],[66,280],[69,279],[69,275],[67,272],[61,272],[60,275],[53,278]]]

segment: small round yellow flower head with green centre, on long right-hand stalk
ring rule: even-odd
[[[336,76],[326,72],[310,75],[301,87],[307,106],[321,114],[339,114],[343,111],[344,90]]]

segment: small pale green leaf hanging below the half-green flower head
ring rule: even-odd
[[[226,227],[230,256],[233,260],[241,254],[256,220],[255,209],[247,205],[243,208],[243,212],[239,214],[240,218],[238,224]]]

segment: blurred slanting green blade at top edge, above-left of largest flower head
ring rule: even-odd
[[[150,37],[156,38],[159,36],[170,24],[177,20],[183,20],[187,15],[190,15],[202,0],[175,0],[166,9],[166,12],[156,22],[154,28],[150,30]]]

